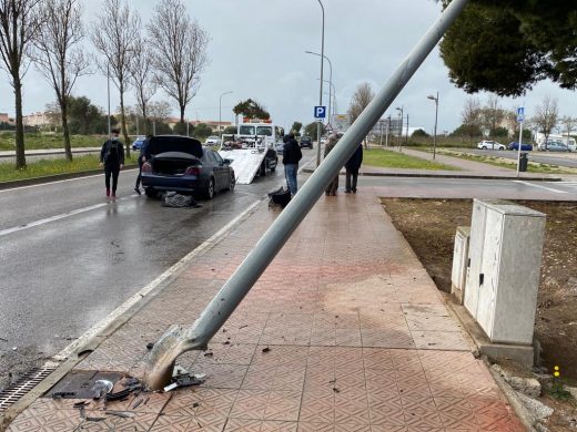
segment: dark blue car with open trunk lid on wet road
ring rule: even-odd
[[[201,144],[179,135],[153,136],[142,165],[142,186],[149,197],[174,191],[182,195],[203,195],[211,199],[220,191],[233,191],[231,161]]]

